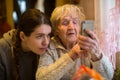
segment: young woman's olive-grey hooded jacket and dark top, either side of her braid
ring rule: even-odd
[[[20,74],[19,80],[35,80],[37,55],[34,53],[21,51],[18,69],[15,68],[11,51],[14,34],[15,30],[11,30],[0,39],[0,80],[16,80],[16,75],[13,74],[17,70]]]

